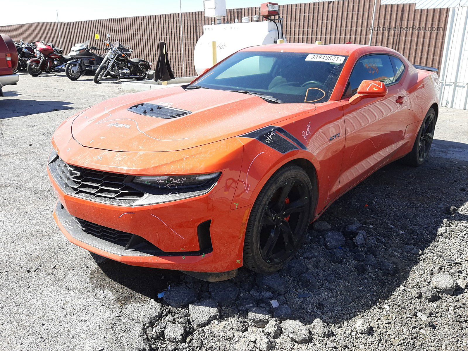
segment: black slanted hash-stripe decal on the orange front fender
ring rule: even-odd
[[[257,139],[261,143],[270,146],[281,154],[286,154],[292,150],[297,150],[298,146],[304,150],[306,149],[304,144],[302,144],[298,139],[294,138],[283,128],[275,126],[264,127],[254,132],[243,134],[241,137]],[[294,145],[291,140],[294,141],[298,146]]]

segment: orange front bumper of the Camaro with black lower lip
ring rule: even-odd
[[[180,271],[219,273],[242,266],[250,207],[231,210],[226,202],[225,211],[214,209],[210,194],[158,205],[116,206],[67,195],[52,178],[51,183],[59,198],[57,225],[69,241],[88,251],[126,264]],[[83,231],[73,217],[138,235],[157,250],[126,249],[103,240]],[[208,243],[206,235],[200,240],[200,225],[206,223]]]

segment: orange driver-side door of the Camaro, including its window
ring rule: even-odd
[[[387,95],[351,104],[349,99],[363,80],[385,83]],[[402,145],[409,113],[407,93],[397,81],[394,66],[386,54],[358,59],[341,102],[346,132],[340,174],[344,191],[379,168]]]

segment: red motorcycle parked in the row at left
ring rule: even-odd
[[[36,58],[28,60],[28,73],[37,77],[42,72],[63,73],[65,66],[72,58],[62,55],[63,50],[51,43],[36,42]]]

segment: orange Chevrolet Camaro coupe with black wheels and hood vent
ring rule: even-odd
[[[380,46],[263,45],[189,85],[101,102],[53,135],[54,218],[123,263],[205,280],[277,271],[344,192],[424,162],[439,78],[419,68]]]

